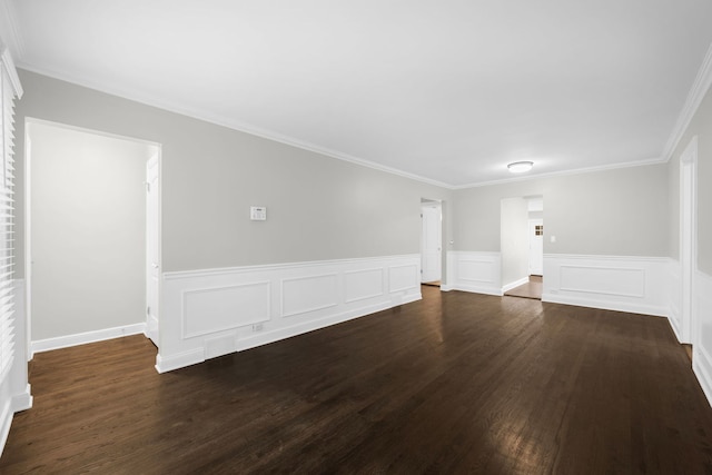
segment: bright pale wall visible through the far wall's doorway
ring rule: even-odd
[[[528,210],[524,198],[502,200],[502,285],[528,276]]]

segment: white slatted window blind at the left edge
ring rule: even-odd
[[[0,62],[0,106],[2,150],[0,177],[0,383],[4,380],[14,357],[14,87],[7,55]]]

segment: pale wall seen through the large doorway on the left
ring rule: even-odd
[[[30,127],[31,338],[144,321],[144,181],[151,147]]]

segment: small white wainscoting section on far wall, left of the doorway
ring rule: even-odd
[[[447,285],[443,290],[502,295],[500,253],[455,250],[447,253]]]

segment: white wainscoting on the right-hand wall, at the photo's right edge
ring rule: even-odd
[[[712,276],[696,271],[693,311],[698,330],[692,345],[692,369],[712,406]]]

